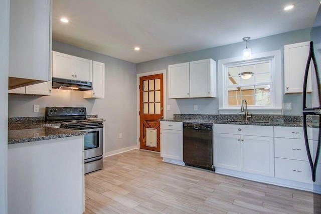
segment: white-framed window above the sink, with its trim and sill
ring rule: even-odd
[[[239,113],[241,102],[255,113],[280,114],[282,109],[280,50],[218,61],[220,113]]]

